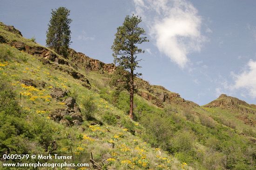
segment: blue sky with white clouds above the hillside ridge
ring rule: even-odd
[[[142,17],[142,78],[200,105],[225,93],[256,104],[255,0],[0,0],[0,21],[45,45],[51,9],[70,9],[71,48],[112,63],[126,15]]]

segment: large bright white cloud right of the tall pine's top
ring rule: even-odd
[[[136,14],[149,28],[159,51],[184,68],[188,54],[200,51],[202,19],[186,0],[134,0]]]

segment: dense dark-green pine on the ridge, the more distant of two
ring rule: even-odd
[[[52,9],[52,18],[48,24],[46,45],[54,49],[58,54],[67,57],[67,50],[72,43],[70,23],[72,19],[69,19],[70,10],[65,7],[59,7],[58,9]]]

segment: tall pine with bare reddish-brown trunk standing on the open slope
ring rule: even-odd
[[[139,73],[135,73],[135,69],[140,67],[138,64],[139,61],[141,61],[137,60],[137,54],[144,53],[144,51],[136,45],[148,42],[147,37],[143,37],[143,35],[145,35],[145,30],[138,26],[140,23],[141,18],[138,18],[138,16],[126,16],[123,25],[117,28],[115,40],[111,47],[113,50],[114,63],[128,71],[129,74],[126,89],[130,94],[129,117],[131,119],[134,118],[134,78],[135,76],[141,75]]]

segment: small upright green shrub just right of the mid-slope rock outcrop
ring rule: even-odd
[[[97,110],[97,106],[94,103],[94,98],[90,95],[82,98],[81,105],[83,106],[82,113],[86,120],[93,118],[94,113]]]

